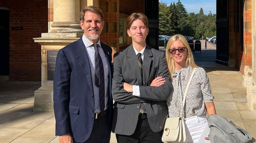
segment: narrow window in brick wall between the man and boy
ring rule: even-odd
[[[120,14],[119,16],[119,44],[124,45],[127,44],[127,26],[126,26],[126,19],[127,15]]]

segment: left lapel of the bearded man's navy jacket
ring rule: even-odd
[[[92,73],[91,73],[91,68],[89,63],[89,57],[87,56],[87,52],[85,50],[85,45],[82,41],[82,38],[80,38],[77,42],[78,42],[77,47],[74,47],[76,50],[74,50],[73,52],[74,52],[74,55],[76,56],[78,63],[81,65],[81,68],[87,79],[88,85],[93,93],[93,81],[91,76]]]

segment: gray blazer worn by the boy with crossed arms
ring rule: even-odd
[[[146,45],[142,68],[144,85],[139,86],[140,97],[123,89],[124,82],[131,85],[142,85],[143,83],[133,45],[115,53],[113,65],[112,94],[115,103],[112,132],[120,135],[132,135],[138,122],[141,103],[146,105],[147,118],[152,131],[161,131],[164,120],[168,116],[165,100],[170,96],[170,90],[173,88],[164,53]],[[151,82],[158,76],[165,78],[164,85],[150,87]]]

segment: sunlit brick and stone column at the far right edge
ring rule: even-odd
[[[246,60],[251,60],[251,64],[244,66],[243,85],[247,90],[247,105],[250,110],[256,110],[256,85],[255,85],[255,1],[245,0],[244,4],[244,54]],[[251,14],[251,16],[250,16]],[[251,39],[251,42],[248,42]],[[248,59],[249,57],[249,59]]]

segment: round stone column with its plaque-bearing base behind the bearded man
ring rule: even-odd
[[[34,111],[53,111],[53,73],[59,49],[83,35],[80,27],[80,9],[99,6],[98,0],[48,0],[48,33],[34,38],[41,44],[41,87],[34,92]]]

